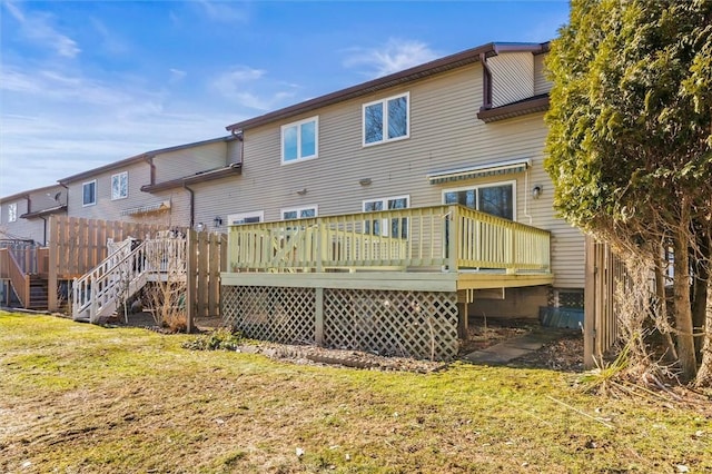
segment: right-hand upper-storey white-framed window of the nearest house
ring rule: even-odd
[[[364,103],[364,146],[411,135],[411,92]]]

